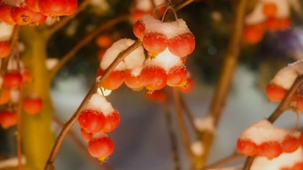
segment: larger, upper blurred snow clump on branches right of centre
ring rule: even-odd
[[[194,119],[194,125],[198,131],[215,131],[214,118],[211,115],[207,115],[202,119]]]

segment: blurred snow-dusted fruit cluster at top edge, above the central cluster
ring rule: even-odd
[[[136,23],[145,14],[152,14],[155,6],[164,4],[166,0],[134,0],[131,7],[132,22]],[[161,16],[165,12],[165,5],[158,8],[158,14]]]

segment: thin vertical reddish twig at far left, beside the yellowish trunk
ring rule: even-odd
[[[18,170],[22,170],[22,143],[21,143],[21,116],[23,109],[23,85],[19,87],[19,101],[18,101],[18,109],[17,109],[17,155],[18,155]]]

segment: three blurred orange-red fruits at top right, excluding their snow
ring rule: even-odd
[[[265,22],[247,26],[244,32],[244,39],[250,44],[256,44],[263,39],[265,30],[270,31],[285,31],[291,26],[289,17],[277,17],[278,6],[274,2],[267,2],[263,4],[263,14],[266,17]]]

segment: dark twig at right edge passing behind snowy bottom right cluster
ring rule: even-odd
[[[296,81],[293,83],[292,87],[288,90],[284,99],[280,102],[280,104],[275,109],[275,111],[267,118],[268,121],[274,123],[282,115],[284,111],[289,109],[290,103],[292,102],[292,98],[296,93],[297,89],[301,85],[303,85],[303,75],[297,77]],[[250,170],[250,167],[252,166],[255,158],[256,156],[247,157],[243,170]]]

